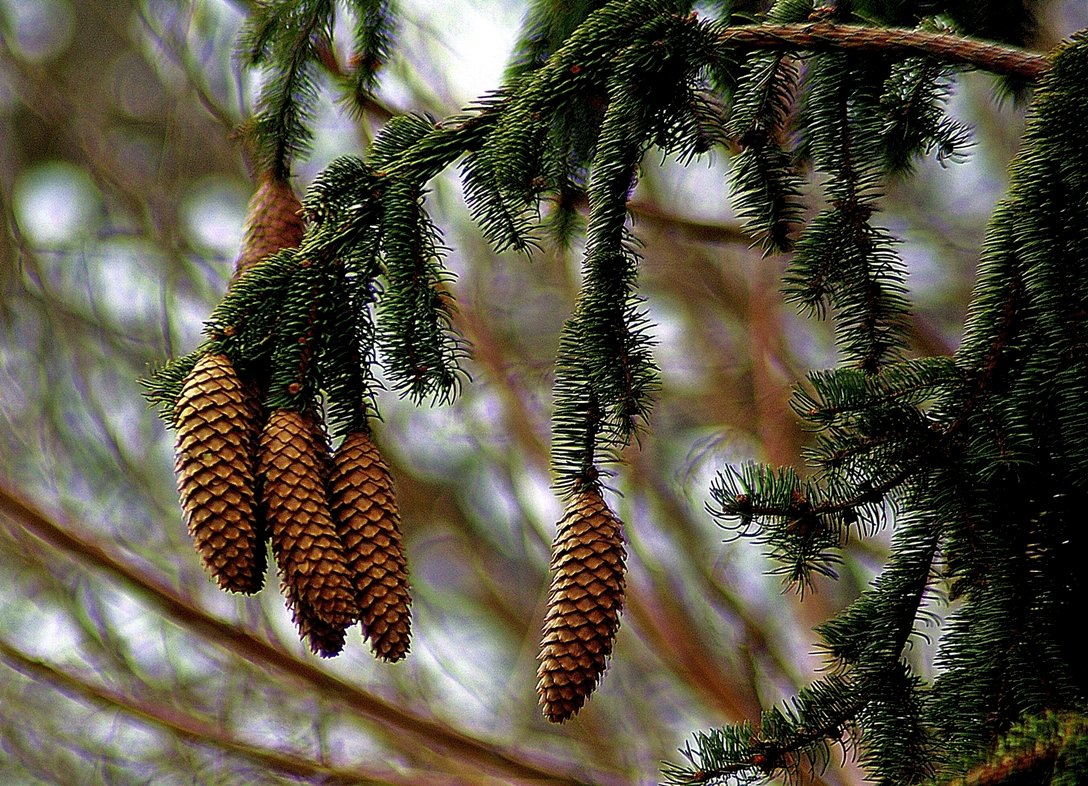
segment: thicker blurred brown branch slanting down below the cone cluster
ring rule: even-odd
[[[424,748],[443,751],[484,772],[505,774],[517,781],[534,784],[583,782],[583,777],[573,773],[567,774],[558,771],[558,767],[553,769],[545,763],[531,762],[520,752],[504,751],[496,744],[478,740],[442,723],[407,712],[272,647],[230,623],[210,616],[159,579],[110,554],[90,538],[75,535],[83,528],[54,521],[2,482],[0,482],[0,512],[50,545],[120,579],[180,625],[220,642],[240,658],[302,683],[306,687],[317,690],[370,721],[410,735]],[[593,779],[598,783],[619,783],[608,773],[594,773]]]

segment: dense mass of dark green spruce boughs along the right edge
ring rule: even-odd
[[[954,364],[813,374],[796,409],[819,429],[814,478],[751,467],[715,488],[716,513],[768,543],[791,578],[826,569],[848,528],[837,516],[864,529],[892,514],[891,561],[820,628],[862,702],[842,720],[863,729],[862,762],[880,783],[947,778],[975,765],[998,767],[1002,779],[993,783],[1018,783],[1019,764],[994,753],[993,740],[1025,717],[1083,711],[1088,701],[1071,625],[1088,601],[1088,209],[1076,196],[1088,184],[1077,142],[1088,124],[1086,81],[1081,39],[1039,87]],[[827,155],[814,147],[817,159]],[[832,187],[851,193],[849,184]],[[805,551],[809,532],[826,533],[820,550]],[[939,676],[927,686],[902,654],[939,580],[957,606],[944,622]],[[708,769],[700,758],[707,751],[722,772],[751,765],[751,750],[719,756],[716,735],[730,740],[735,729],[701,737],[689,751],[694,765]],[[1083,739],[1081,730],[1073,747]],[[1056,750],[1044,757],[1047,772]],[[1024,766],[1024,777],[1039,778],[1025,783],[1050,782],[1033,761]]]

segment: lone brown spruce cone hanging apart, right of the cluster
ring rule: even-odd
[[[544,715],[561,723],[596,687],[623,607],[623,533],[601,491],[576,494],[556,532],[539,683]]]

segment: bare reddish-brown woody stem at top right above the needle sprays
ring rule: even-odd
[[[992,41],[897,27],[816,22],[803,25],[744,25],[721,32],[718,40],[740,51],[792,49],[853,50],[889,56],[925,56],[1030,82],[1050,69],[1050,58]]]

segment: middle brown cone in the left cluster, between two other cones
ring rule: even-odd
[[[297,598],[325,624],[346,628],[358,618],[358,609],[310,420],[293,409],[269,417],[261,432],[261,503],[288,601]]]

